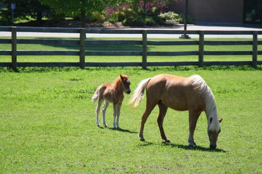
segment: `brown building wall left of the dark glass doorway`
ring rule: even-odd
[[[169,5],[170,11],[184,13],[184,0]],[[188,15],[196,24],[242,24],[244,0],[188,0]]]

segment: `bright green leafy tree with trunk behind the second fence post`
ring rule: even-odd
[[[81,27],[85,28],[85,16],[92,12],[102,12],[106,6],[117,4],[118,0],[38,0],[48,5],[57,14],[80,17]]]

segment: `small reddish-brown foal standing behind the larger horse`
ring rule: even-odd
[[[119,115],[120,115],[120,108],[122,105],[122,101],[124,99],[124,91],[129,94],[131,92],[130,88],[130,80],[128,76],[123,75],[119,76],[113,85],[111,84],[103,84],[96,88],[95,93],[92,97],[93,101],[98,99],[98,104],[96,106],[96,125],[100,126],[98,121],[99,110],[103,101],[105,104],[102,109],[103,113],[103,125],[107,127],[105,121],[105,112],[106,108],[108,107],[109,103],[113,103],[113,128],[119,128]]]

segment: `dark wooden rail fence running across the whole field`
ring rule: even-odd
[[[132,30],[132,29],[84,29],[84,28],[33,28],[33,27],[0,27],[0,32],[11,32],[11,39],[0,38],[0,44],[11,44],[11,50],[0,50],[0,55],[10,55],[11,62],[0,62],[0,67],[115,67],[115,66],[211,66],[211,65],[262,65],[262,61],[258,61],[258,55],[262,55],[262,51],[258,51],[258,45],[262,45],[262,41],[258,41],[258,35],[262,31],[186,31],[186,34],[199,35],[198,41],[149,41],[148,34],[185,34],[184,30]],[[17,32],[40,32],[40,33],[80,33],[79,39],[17,39]],[[142,34],[141,40],[92,40],[86,39],[87,33],[100,34]],[[252,35],[252,41],[205,41],[205,35]],[[77,51],[19,51],[16,44],[77,44]],[[131,44],[142,45],[141,51],[85,51],[86,44]],[[198,51],[175,51],[175,52],[155,52],[148,51],[148,45],[198,45]],[[205,45],[252,45],[251,51],[205,51]],[[1,48],[1,47],[0,47]],[[79,56],[79,62],[17,62],[17,56],[22,55],[72,55]],[[198,61],[186,62],[148,62],[147,56],[198,56]],[[252,55],[250,61],[204,61],[205,55]],[[88,56],[141,56],[141,62],[87,62],[85,57]]]

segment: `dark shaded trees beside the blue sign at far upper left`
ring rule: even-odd
[[[42,13],[49,11],[49,7],[42,5],[37,0],[2,0],[1,5],[5,8],[0,8],[0,20],[2,24],[11,24],[12,10],[11,3],[15,3],[14,21],[19,19],[36,18],[37,22],[41,22]]]

